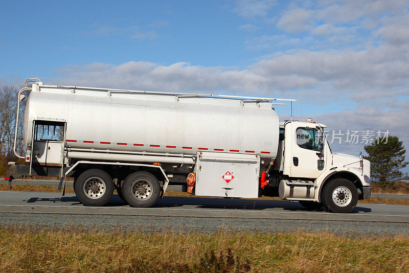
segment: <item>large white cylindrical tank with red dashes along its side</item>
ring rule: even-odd
[[[66,146],[84,149],[184,153],[218,151],[277,156],[279,119],[271,102],[33,84],[24,117],[66,122]]]

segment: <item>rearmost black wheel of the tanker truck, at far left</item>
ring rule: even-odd
[[[76,179],[74,191],[85,206],[104,206],[113,194],[112,178],[100,169],[86,170]]]

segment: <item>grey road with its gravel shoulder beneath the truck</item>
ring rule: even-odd
[[[361,204],[349,214],[307,211],[281,200],[164,197],[154,207],[131,208],[118,196],[104,207],[84,207],[74,194],[0,192],[0,224],[81,225],[103,229],[178,232],[330,231],[409,234],[409,207]]]

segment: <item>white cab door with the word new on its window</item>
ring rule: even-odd
[[[293,123],[291,129],[290,176],[317,178],[325,170],[322,131],[305,123]]]

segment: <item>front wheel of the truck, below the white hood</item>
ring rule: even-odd
[[[324,206],[334,213],[349,213],[358,203],[358,190],[350,180],[335,178],[325,185]]]

